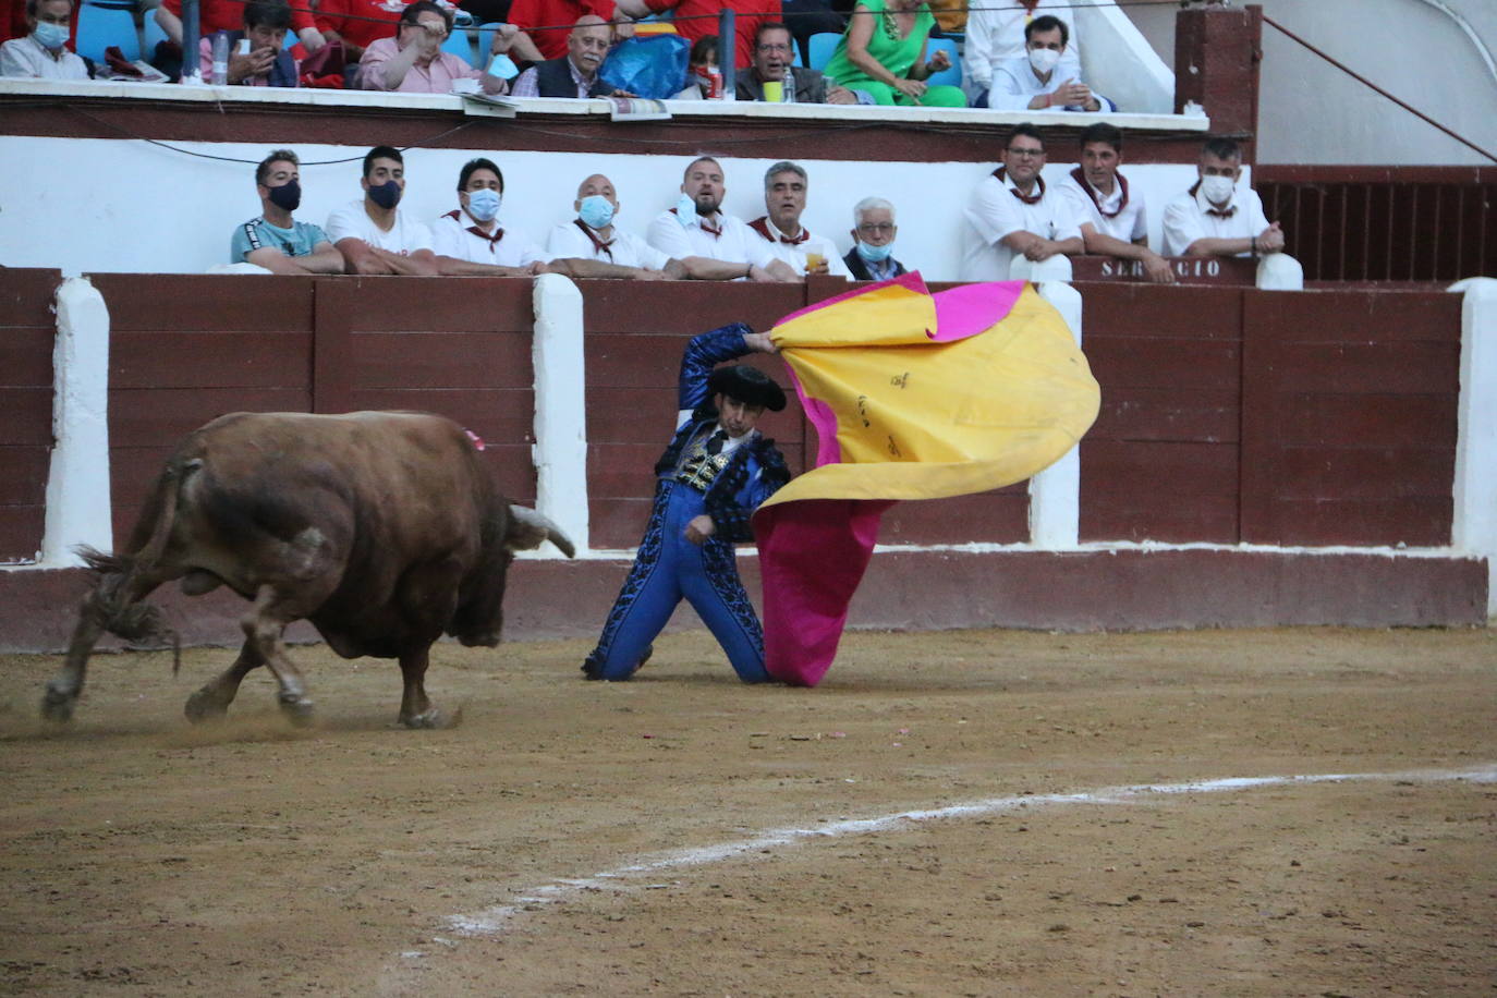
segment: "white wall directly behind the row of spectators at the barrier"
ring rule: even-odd
[[[0,263],[85,272],[195,274],[228,262],[237,224],[259,214],[254,163],[265,144],[174,142],[184,151],[129,139],[0,138]],[[996,144],[994,144],[996,145]],[[334,208],[361,198],[365,148],[298,145],[302,206],[298,218],[322,224]],[[997,150],[994,148],[994,153]],[[199,159],[202,153],[244,160]],[[573,217],[576,184],[605,172],[618,189],[618,223],[644,235],[648,221],[675,203],[692,156],[620,156],[410,150],[404,211],[433,220],[457,206],[457,177],[473,156],[504,171],[500,221],[543,241]],[[325,160],[344,163],[317,165]],[[725,208],[743,218],[763,214],[765,157],[722,157]],[[106,165],[106,166],[105,166]],[[969,192],[993,163],[849,163],[804,160],[811,177],[805,224],[852,248],[852,206],[880,195],[898,208],[895,256],[927,280],[955,280],[960,227]],[[1051,144],[1046,180],[1075,166],[1069,144]],[[1193,166],[1127,166],[1135,192],[1150,205],[1150,239],[1160,244],[1165,202],[1195,183]]]

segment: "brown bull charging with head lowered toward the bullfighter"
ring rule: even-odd
[[[177,447],[123,552],[82,552],[99,578],[42,714],[72,717],[105,631],[172,636],[141,600],[181,579],[189,596],[228,585],[253,601],[240,657],[189,697],[190,720],[220,717],[257,666],[275,675],[281,709],[310,720],[281,642],[308,619],[344,658],[400,660],[401,724],[451,724],[427,699],[431,643],[448,633],[497,645],[513,552],[548,539],[572,557],[551,521],[504,501],[463,428],[440,416],[222,416]]]

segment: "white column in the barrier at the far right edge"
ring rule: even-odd
[[[1497,280],[1451,286],[1461,301],[1461,395],[1451,543],[1487,558],[1487,619],[1497,618]]]

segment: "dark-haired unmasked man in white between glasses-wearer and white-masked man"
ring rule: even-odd
[[[1081,166],[1060,183],[1081,224],[1087,253],[1138,260],[1148,280],[1172,284],[1169,260],[1148,248],[1144,192],[1129,190],[1123,163],[1123,132],[1099,121],[1081,133]]]

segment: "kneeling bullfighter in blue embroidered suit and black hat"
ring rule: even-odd
[[[686,599],[740,679],[772,681],[734,543],[753,540],[753,512],[790,480],[780,450],[757,429],[766,408],[784,408],[784,391],[747,365],[713,370],[753,352],[775,353],[775,346],[741,322],[687,344],[675,435],[654,465],[654,509],[597,648],[582,663],[588,679],[630,678]]]

